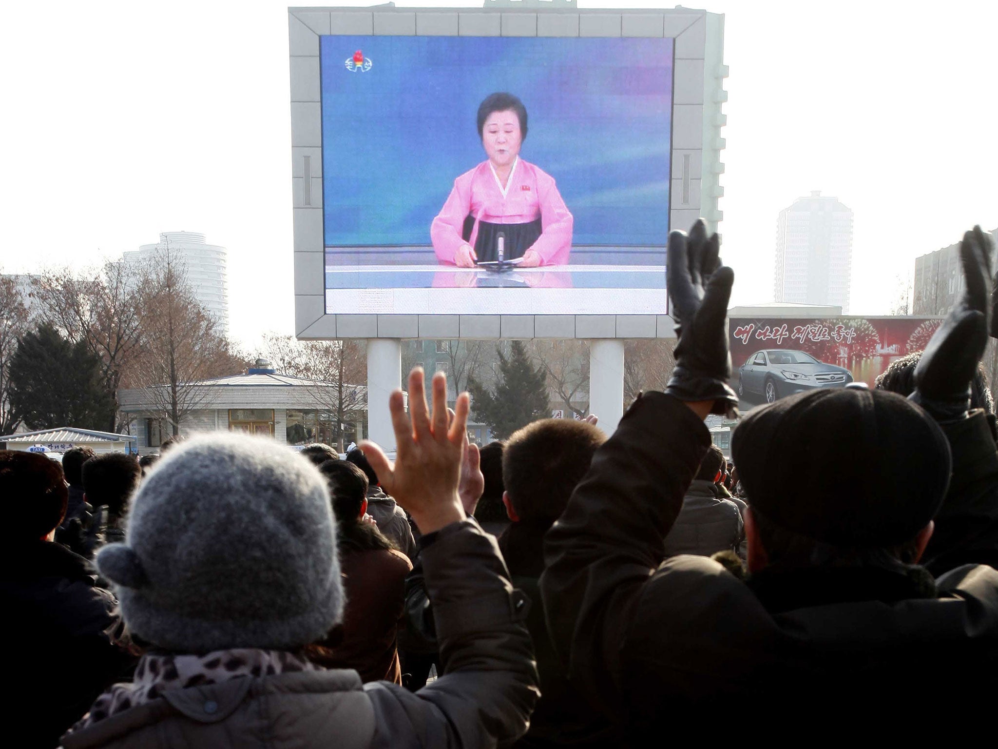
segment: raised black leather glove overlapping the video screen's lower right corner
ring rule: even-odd
[[[689,237],[669,236],[666,287],[680,342],[666,392],[680,400],[714,400],[713,413],[734,416],[739,398],[728,385],[732,357],[726,322],[735,273],[721,265],[720,244],[718,235],[708,238],[703,219]]]

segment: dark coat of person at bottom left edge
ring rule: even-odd
[[[94,586],[86,559],[41,540],[0,548],[0,600],[3,673],[16,684],[4,690],[8,733],[16,730],[18,746],[54,747],[134,665],[106,634],[118,622],[117,601]]]

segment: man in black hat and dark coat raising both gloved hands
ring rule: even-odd
[[[884,725],[897,739],[988,714],[998,571],[968,564],[933,578],[918,564],[951,466],[957,483],[966,463],[967,443],[947,436],[978,418],[967,405],[987,342],[987,253],[965,243],[966,291],[911,399],[821,390],[743,418],[732,451],[748,495],[747,579],[664,552],[711,444],[704,418],[738,404],[727,384],[734,274],[718,254],[702,221],[670,237],[675,372],[631,406],[547,534],[541,593],[570,680],[640,745],[667,716],[701,734],[748,721],[794,737]]]

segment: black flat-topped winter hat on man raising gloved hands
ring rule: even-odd
[[[885,390],[815,390],[749,413],[732,436],[749,505],[836,546],[914,538],[949,485],[949,443],[910,400]]]

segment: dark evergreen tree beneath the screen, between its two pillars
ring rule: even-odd
[[[492,430],[496,439],[505,439],[522,426],[550,416],[548,382],[544,367],[534,368],[523,343],[514,341],[509,358],[497,349],[499,379],[493,394],[474,377],[468,377],[468,391],[475,415]]]

